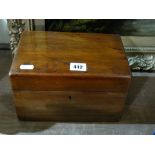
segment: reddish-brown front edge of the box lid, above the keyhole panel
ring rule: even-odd
[[[33,91],[108,91],[126,92],[130,78],[107,77],[100,75],[85,76],[12,76],[11,83],[14,90]]]

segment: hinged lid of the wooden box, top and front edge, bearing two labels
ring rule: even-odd
[[[16,90],[123,91],[130,68],[118,35],[24,32],[10,70]]]

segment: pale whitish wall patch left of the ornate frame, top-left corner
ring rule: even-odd
[[[9,31],[6,19],[0,19],[0,44],[1,43],[9,43]]]

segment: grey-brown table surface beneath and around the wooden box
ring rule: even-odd
[[[11,51],[0,51],[1,134],[152,134],[155,130],[155,74],[135,73],[120,122],[24,122],[16,116],[8,72]],[[5,66],[5,67],[4,67]]]

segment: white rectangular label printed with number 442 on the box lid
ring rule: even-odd
[[[71,71],[87,71],[86,63],[70,63]]]

